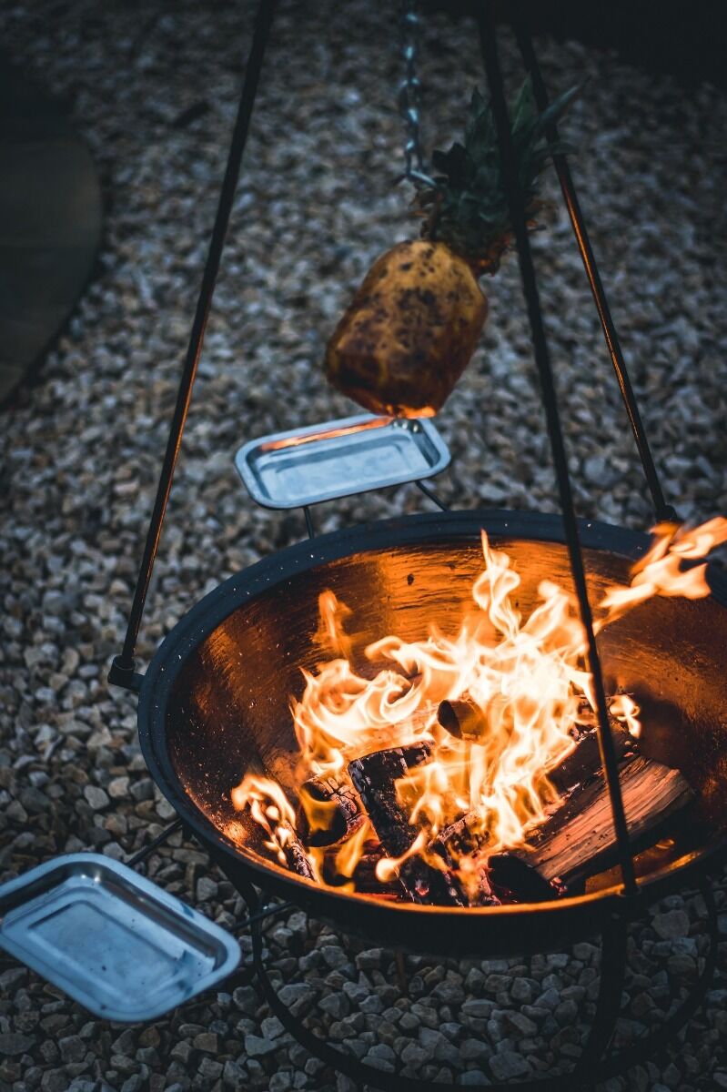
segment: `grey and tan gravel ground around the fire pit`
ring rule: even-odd
[[[223,262],[140,656],[221,578],[303,532],[253,508],[233,467],[246,439],[351,412],[324,384],[326,334],[371,260],[412,227],[392,181],[398,62],[389,5],[284,3]],[[33,389],[0,428],[4,663],[0,879],[68,851],[122,858],[170,818],[135,741],[135,704],[105,682],[118,651],[236,106],[251,4],[36,0],[0,12],[3,47],[56,93],[103,175],[98,275]],[[669,498],[725,509],[724,132],[727,102],[579,45],[540,45],[561,88],[587,78],[567,126],[584,209]],[[425,138],[458,133],[480,80],[472,34],[432,19]],[[514,69],[513,57],[505,61]],[[553,180],[547,190],[555,197]],[[579,510],[649,522],[645,486],[564,214],[535,238]],[[514,262],[490,294],[482,348],[438,422],[453,453],[438,488],[461,507],[552,510],[555,491]],[[565,321],[564,321],[565,320]],[[413,487],[329,506],[322,530],[413,511]],[[243,907],[177,835],[148,871],[230,927]],[[727,877],[716,882],[723,927]],[[652,1026],[704,952],[699,897],[633,930],[620,1043]],[[462,1085],[567,1067],[597,988],[592,943],[532,961],[408,960],[299,913],[267,945],[281,996],[357,1057]],[[283,1034],[242,976],[148,1026],[91,1020],[0,960],[0,1087],[353,1088]],[[727,972],[686,1037],[611,1092],[727,1088]],[[596,1077],[597,1075],[594,1075]]]

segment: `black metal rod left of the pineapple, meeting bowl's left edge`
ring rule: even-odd
[[[255,26],[252,35],[252,45],[250,47],[250,55],[245,70],[240,104],[237,110],[233,139],[230,141],[229,154],[227,156],[227,166],[225,168],[225,177],[219,193],[219,202],[217,204],[217,214],[215,216],[215,223],[212,230],[212,238],[210,240],[210,250],[207,252],[204,273],[202,274],[202,284],[190,332],[189,346],[184,358],[184,367],[179,380],[177,403],[171,418],[169,438],[167,440],[167,448],[164,453],[164,463],[162,464],[162,474],[159,475],[159,484],[156,490],[156,499],[154,501],[154,509],[152,511],[152,518],[146,533],[144,554],[142,557],[141,568],[139,570],[139,578],[136,580],[134,597],[131,604],[131,612],[129,614],[129,625],[123,642],[123,651],[120,656],[115,658],[109,676],[110,680],[114,682],[121,681],[124,676],[133,673],[134,668],[134,651],[136,648],[136,639],[139,637],[139,627],[141,626],[142,615],[144,613],[144,604],[146,602],[148,584],[152,578],[152,569],[154,568],[154,560],[156,558],[159,537],[162,535],[162,524],[164,523],[167,501],[169,500],[169,492],[171,490],[171,479],[174,477],[182,432],[187,422],[187,413],[189,411],[192,387],[196,376],[196,367],[202,353],[202,343],[204,341],[207,318],[212,306],[212,296],[215,289],[215,282],[219,270],[219,260],[223,247],[225,246],[227,226],[233,211],[235,192],[237,190],[237,182],[240,174],[240,163],[242,162],[242,153],[248,139],[250,118],[252,116],[252,108],[258,92],[258,85],[260,83],[263,56],[270,37],[275,5],[276,0],[260,0],[258,8]]]

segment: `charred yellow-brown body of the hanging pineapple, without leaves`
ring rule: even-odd
[[[400,242],[371,266],[333,332],[329,381],[376,414],[430,417],[467,366],[488,305],[443,242]]]

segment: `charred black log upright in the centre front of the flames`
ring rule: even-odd
[[[426,762],[432,750],[428,741],[407,747],[374,751],[348,763],[348,772],[361,797],[371,824],[390,857],[404,857],[417,840],[418,831],[409,823],[396,798],[396,782],[414,767]],[[466,900],[451,873],[434,868],[421,857],[406,857],[398,867],[398,879],[413,902],[462,906]]]

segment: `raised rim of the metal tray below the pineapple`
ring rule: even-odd
[[[371,422],[381,422],[378,426],[371,426]],[[351,432],[358,431],[356,426],[360,426],[360,431],[366,431],[365,426],[369,428],[389,428],[395,422],[401,420],[403,423],[402,429],[409,432],[410,428],[408,423],[415,423],[419,426],[421,431],[426,435],[429,442],[434,448],[438,460],[428,470],[420,474],[409,475],[406,477],[396,476],[393,478],[388,478],[384,482],[380,482],[374,485],[369,485],[365,489],[335,489],[333,491],[326,491],[324,495],[309,494],[300,499],[295,499],[286,503],[281,503],[279,501],[273,502],[270,495],[262,492],[258,488],[258,483],[254,475],[250,472],[249,466],[249,455],[257,449],[262,448],[263,444],[279,442],[281,440],[291,440],[296,437],[310,437],[307,442],[313,443],[312,437],[317,432],[325,432],[336,428],[350,428]],[[286,429],[283,432],[270,432],[266,436],[259,436],[253,440],[248,440],[242,444],[241,448],[235,452],[235,467],[242,478],[242,484],[246,489],[261,508],[269,508],[274,511],[287,511],[294,508],[307,508],[310,505],[322,505],[326,500],[339,500],[342,497],[355,497],[362,492],[372,492],[376,489],[384,489],[394,485],[404,485],[407,482],[418,482],[421,478],[436,477],[437,474],[441,474],[442,471],[452,462],[452,453],[442,438],[439,429],[433,425],[428,417],[415,417],[415,418],[398,418],[398,417],[381,417],[377,414],[354,414],[351,417],[339,417],[335,420],[324,420],[317,425],[306,425],[303,428],[291,428]]]

